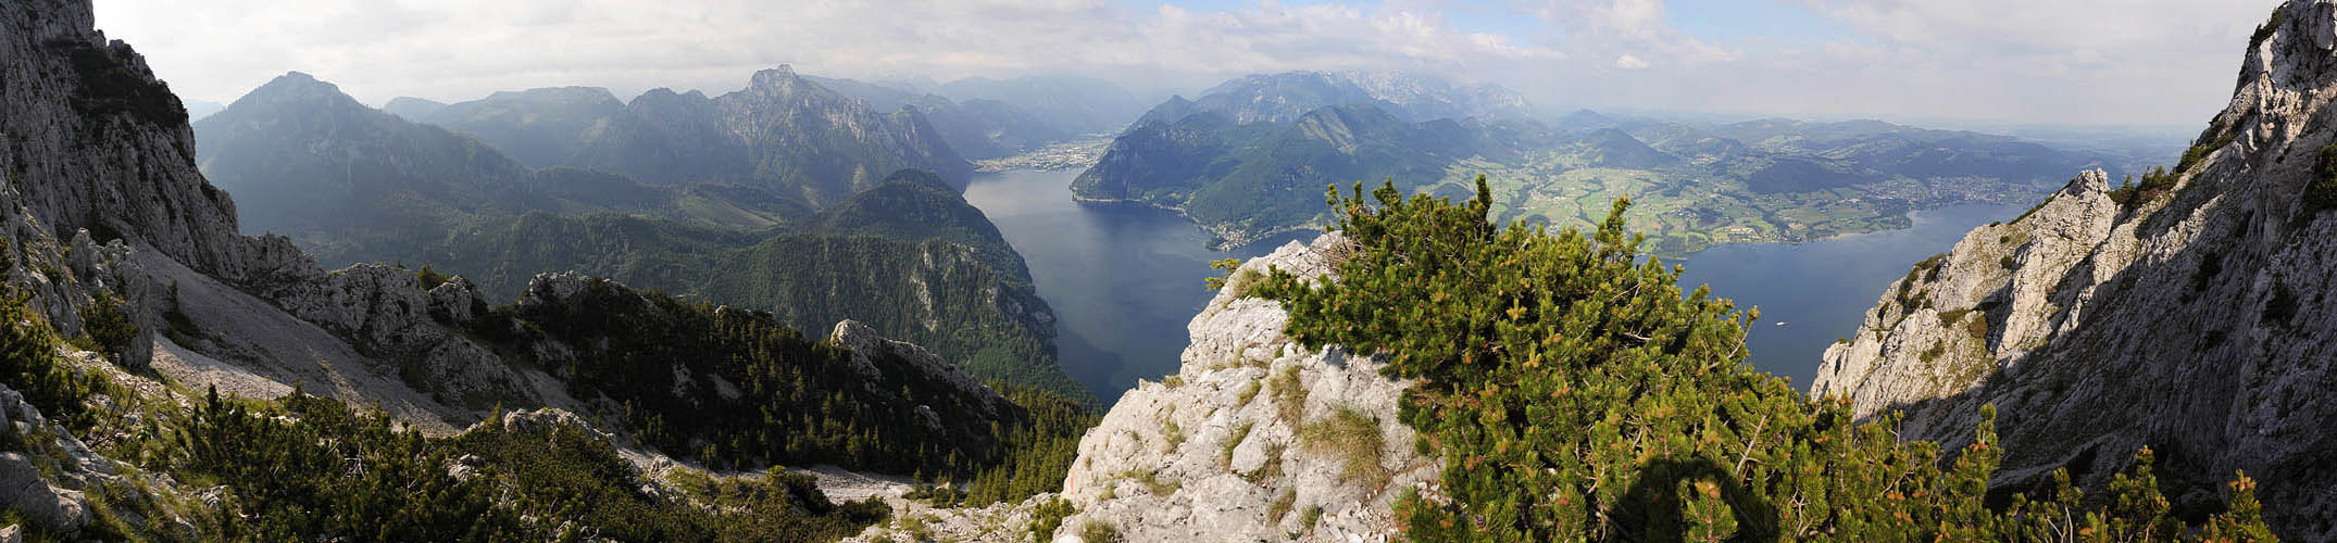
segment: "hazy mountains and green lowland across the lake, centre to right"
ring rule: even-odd
[[[1119,133],[1073,191],[1178,210],[1227,245],[1318,228],[1323,186],[1398,182],[1470,193],[1503,221],[1596,224],[1629,196],[1664,254],[1905,226],[1907,210],[2014,203],[2075,168],[2148,156],[1884,121],[1680,124],[1573,112],[1540,121],[1514,93],[1428,77],[1283,72],[1171,98]]]

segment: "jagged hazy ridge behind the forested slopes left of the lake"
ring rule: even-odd
[[[428,107],[421,121],[470,133],[526,165],[575,165],[647,184],[748,184],[830,205],[902,168],[965,186],[972,165],[916,110],[876,110],[781,65],[708,98],[647,91],[533,89]]]

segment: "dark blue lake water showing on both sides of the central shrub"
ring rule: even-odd
[[[1178,368],[1185,324],[1208,303],[1208,261],[1250,259],[1316,233],[1250,247],[1208,249],[1208,233],[1173,212],[1070,200],[1077,172],[984,172],[965,189],[1014,252],[1056,315],[1063,371],[1105,403],[1138,378]],[[1956,205],[1914,212],[1902,231],[1842,235],[1802,245],[1720,245],[1687,256],[1683,282],[1711,284],[1739,308],[1760,308],[1748,350],[1753,366],[1809,387],[1818,354],[1858,329],[1884,287],[1916,261],[1947,252],[1972,226],[2012,219],[2019,207]],[[1778,324],[1783,322],[1783,324]]]

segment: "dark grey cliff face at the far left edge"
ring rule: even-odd
[[[93,30],[89,2],[28,0],[5,12],[0,133],[12,149],[0,172],[26,196],[23,212],[58,238],[136,231],[187,266],[234,275],[248,245],[234,235],[236,207],[194,172],[187,110],[145,58]],[[159,200],[175,205],[145,205]]]

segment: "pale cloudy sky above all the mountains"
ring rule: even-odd
[[[1281,70],[1407,70],[1540,107],[2197,126],[2276,0],[96,0],[185,98],[287,70],[358,100],[535,86],[724,93],[1094,75],[1143,98]]]

